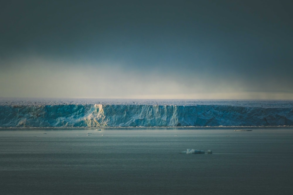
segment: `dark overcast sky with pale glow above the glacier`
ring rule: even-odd
[[[0,97],[293,99],[292,1],[2,1]]]

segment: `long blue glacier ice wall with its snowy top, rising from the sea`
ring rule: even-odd
[[[293,125],[292,101],[123,101],[70,104],[0,99],[0,127]]]

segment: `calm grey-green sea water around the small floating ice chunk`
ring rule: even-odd
[[[0,194],[293,194],[293,129],[252,130],[2,129]]]

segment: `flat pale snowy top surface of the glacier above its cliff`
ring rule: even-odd
[[[229,105],[265,108],[293,107],[292,100],[0,98],[0,106],[44,106],[71,104],[176,106]]]

